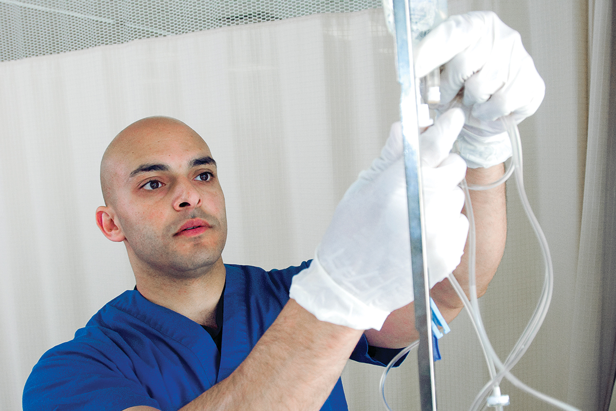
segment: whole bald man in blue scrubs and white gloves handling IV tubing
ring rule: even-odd
[[[481,54],[511,49],[493,38],[513,32],[497,20],[453,17],[418,53],[422,45],[432,51],[426,73],[455,56],[444,75],[461,79],[452,98],[466,87],[462,104],[472,108],[466,118],[444,109],[420,137],[431,295],[447,321],[463,306],[443,279],[453,271],[468,283],[468,254],[461,256],[468,226],[456,184],[464,175],[470,184],[498,180],[506,144],[496,119],[511,113],[521,121],[543,97],[534,74],[511,84],[498,77],[520,73],[506,70],[520,62],[534,69],[532,59]],[[521,90],[529,99],[508,99]],[[474,117],[485,112],[491,120]],[[475,168],[466,171],[450,153],[456,138]],[[283,270],[224,264],[227,222],[216,161],[181,121],[145,118],[121,131],[103,155],[101,184],[97,225],[126,246],[136,288],[41,357],[26,382],[25,411],[346,410],[339,376],[347,359],[383,365],[417,338],[399,124],[342,198],[315,258]],[[505,246],[505,189],[474,192],[472,203],[482,295]]]

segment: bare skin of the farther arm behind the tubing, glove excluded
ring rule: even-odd
[[[503,169],[503,165],[469,168],[466,172],[466,182],[489,184],[503,176]],[[471,203],[476,227],[477,295],[482,296],[496,273],[505,250],[507,236],[505,184],[490,190],[471,191]],[[460,265],[453,274],[468,296],[468,242]],[[431,296],[447,322],[453,320],[464,307],[448,279],[434,285]],[[413,303],[392,312],[380,331],[367,330],[365,335],[371,346],[384,348],[403,348],[418,340]]]

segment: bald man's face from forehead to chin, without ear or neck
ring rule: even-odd
[[[216,163],[185,124],[150,123],[129,126],[112,143],[110,208],[131,262],[158,274],[197,277],[221,259],[227,238]]]

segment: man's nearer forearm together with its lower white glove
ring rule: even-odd
[[[431,154],[437,164],[444,162],[463,122],[461,110],[440,116],[424,136],[441,144],[423,150],[424,157]],[[455,176],[435,185],[434,193],[448,194],[462,179],[466,166],[458,160],[450,165],[454,169],[440,169],[441,179]],[[399,195],[404,187],[402,133],[395,124],[381,157],[360,174],[336,209],[312,264],[293,277],[291,299],[277,320],[229,378],[183,411],[320,409],[363,330],[380,327],[392,310],[412,298],[408,253],[399,248],[397,260],[392,256],[392,249],[408,244],[408,227],[399,224],[408,215],[405,197]],[[448,213],[460,216],[460,208]],[[464,239],[459,238],[456,263]]]

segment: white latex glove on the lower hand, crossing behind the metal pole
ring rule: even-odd
[[[462,111],[450,110],[420,137],[430,287],[460,264],[466,243],[457,186],[466,165],[450,153],[463,123]],[[380,330],[390,312],[413,301],[399,123],[381,157],[345,193],[312,264],[293,278],[290,297],[319,320],[358,330]]]

